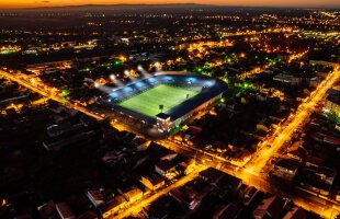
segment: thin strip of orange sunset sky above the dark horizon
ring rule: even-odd
[[[339,7],[339,0],[211,0],[208,3],[203,0],[0,0],[0,9],[22,9],[39,7],[65,7],[83,4],[166,4],[166,3],[201,3],[201,4],[220,4],[220,5],[240,5],[240,7]]]

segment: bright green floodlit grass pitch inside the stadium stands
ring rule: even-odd
[[[162,112],[166,113],[170,108],[183,103],[186,100],[188,94],[189,99],[191,99],[199,94],[199,92],[167,84],[159,84],[132,96],[117,105],[149,117],[155,117],[160,113],[159,105],[163,105]]]

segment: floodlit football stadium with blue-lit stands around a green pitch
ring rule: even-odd
[[[121,115],[168,132],[206,111],[228,90],[225,82],[206,76],[167,71],[112,90],[98,102]]]

